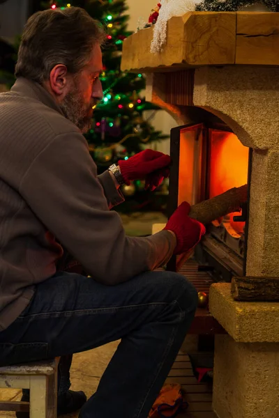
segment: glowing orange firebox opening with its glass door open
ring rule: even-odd
[[[225,123],[197,123],[171,131],[170,216],[182,201],[191,205],[248,183],[252,151]],[[206,228],[195,258],[216,281],[241,276],[246,267],[246,207]],[[174,265],[174,261],[172,261]]]

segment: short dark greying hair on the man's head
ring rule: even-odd
[[[82,8],[37,12],[24,26],[15,77],[42,84],[57,64],[66,65],[68,72],[75,75],[91,58],[93,45],[104,40],[100,22]]]

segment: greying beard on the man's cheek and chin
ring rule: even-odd
[[[85,107],[82,95],[78,91],[74,91],[65,96],[63,102],[60,103],[60,108],[66,118],[75,123],[83,134],[86,134],[92,123],[92,104],[90,107]]]

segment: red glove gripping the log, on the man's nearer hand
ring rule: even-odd
[[[183,254],[193,249],[206,231],[203,224],[188,216],[189,212],[189,203],[181,203],[164,228],[176,235],[177,245],[174,254]]]

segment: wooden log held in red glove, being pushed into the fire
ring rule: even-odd
[[[209,224],[210,222],[223,217],[232,212],[237,212],[241,208],[241,203],[245,203],[248,199],[248,186],[234,187],[227,190],[223,194],[219,194],[212,199],[202,201],[193,205],[189,216],[197,219],[202,224]],[[179,271],[183,264],[192,256],[193,250],[185,254],[181,254],[176,258],[176,271]]]

